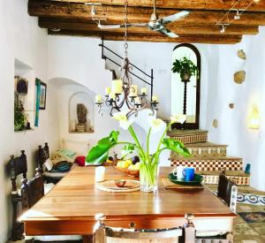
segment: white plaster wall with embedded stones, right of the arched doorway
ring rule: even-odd
[[[252,166],[251,185],[265,190],[264,163],[264,96],[265,96],[265,28],[260,34],[245,36],[237,45],[216,45],[211,47],[206,63],[208,80],[203,80],[208,97],[202,97],[205,112],[201,114],[201,128],[208,129],[209,139],[228,144],[228,154],[239,156]],[[238,49],[246,51],[246,61],[237,57]],[[246,81],[234,83],[234,72],[245,70]],[[234,103],[234,109],[229,108]],[[258,131],[247,128],[247,117],[253,104],[258,105],[261,114],[261,128]],[[211,126],[218,120],[218,127]]]

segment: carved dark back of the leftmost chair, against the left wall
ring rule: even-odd
[[[17,178],[22,175],[23,178],[27,178],[27,156],[25,150],[21,150],[21,156],[10,156],[9,171],[12,184],[12,194],[18,193]]]

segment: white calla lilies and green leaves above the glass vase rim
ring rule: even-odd
[[[128,154],[135,150],[140,156],[140,166],[145,164],[146,166],[156,167],[159,161],[159,156],[165,149],[170,149],[181,156],[191,156],[188,149],[184,146],[184,144],[178,140],[172,140],[170,138],[165,138],[167,131],[170,128],[170,125],[173,123],[184,123],[186,120],[185,115],[173,115],[170,118],[170,123],[165,125],[163,120],[159,118],[150,118],[150,127],[148,129],[147,136],[147,146],[146,148],[140,145],[140,141],[137,137],[133,129],[133,121],[128,120],[126,115],[123,112],[117,112],[114,114],[114,118],[119,121],[121,127],[126,129],[132,136],[133,142],[127,141],[118,141],[118,131],[112,131],[108,137],[102,138],[99,140],[95,147],[91,148],[88,151],[86,157],[86,163],[91,165],[99,165],[102,164],[109,156],[110,148],[113,148],[117,145],[123,145],[125,150],[128,151]],[[164,129],[163,134],[158,141],[157,148],[153,155],[150,155],[149,151],[149,143],[150,143],[150,134],[156,133]]]

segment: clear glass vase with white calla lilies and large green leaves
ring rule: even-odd
[[[181,156],[190,156],[188,149],[178,140],[166,138],[165,135],[173,123],[184,123],[186,116],[173,115],[170,118],[169,125],[165,125],[159,118],[150,118],[150,127],[147,135],[147,145],[143,147],[133,129],[133,119],[128,119],[123,112],[117,112],[113,118],[119,121],[119,125],[131,133],[133,142],[118,141],[118,131],[112,131],[108,137],[99,140],[97,145],[90,149],[86,157],[86,163],[92,165],[102,164],[109,156],[110,148],[116,145],[125,145],[125,148],[135,150],[140,157],[140,190],[144,192],[153,192],[157,188],[157,171],[159,156],[164,149],[170,149]],[[150,134],[159,132],[163,129],[163,135],[157,140],[157,148],[152,155],[149,151]]]

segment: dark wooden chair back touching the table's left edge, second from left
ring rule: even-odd
[[[23,178],[21,186],[21,204],[22,210],[30,209],[44,195],[44,184],[42,171],[36,169],[35,177],[32,179]]]

